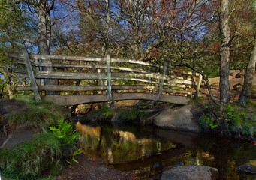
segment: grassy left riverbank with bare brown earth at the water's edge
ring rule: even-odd
[[[136,179],[131,173],[120,172],[111,166],[106,166],[101,163],[101,160],[89,160],[89,157],[84,154],[78,154],[74,160],[69,160],[72,157],[72,151],[63,150],[61,148],[63,142],[49,131],[49,127],[54,126],[59,118],[71,119],[70,110],[47,102],[38,104],[30,99],[1,99],[0,172],[2,175],[8,178],[26,177],[25,179],[32,177],[37,179],[38,177],[44,177],[44,179],[101,180],[106,177],[107,179]],[[76,159],[79,159],[79,163],[74,162]],[[71,163],[68,164],[66,161],[65,169],[62,167],[63,160]],[[19,165],[15,166],[15,164]],[[27,169],[26,166],[31,167]],[[34,167],[37,168],[34,169]],[[24,174],[25,171],[29,172]],[[59,172],[63,172],[62,175],[54,177]]]

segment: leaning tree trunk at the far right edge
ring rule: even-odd
[[[245,82],[242,86],[242,93],[239,97],[239,104],[241,104],[242,106],[245,106],[246,102],[248,101],[248,98],[250,98],[251,96],[255,63],[256,63],[256,34],[254,36],[254,46],[251,51],[251,56],[245,71]]]

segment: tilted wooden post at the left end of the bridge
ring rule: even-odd
[[[25,64],[26,64],[26,68],[27,68],[27,71],[28,71],[28,74],[29,74],[29,79],[30,79],[30,82],[31,82],[31,85],[32,85],[32,89],[34,91],[35,101],[41,101],[41,97],[40,97],[39,92],[38,92],[38,86],[37,86],[37,83],[35,81],[35,75],[34,75],[34,72],[32,70],[32,66],[31,66],[31,63],[30,63],[29,54],[28,54],[26,49],[23,49],[23,58],[25,60]]]

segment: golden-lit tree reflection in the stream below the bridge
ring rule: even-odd
[[[176,148],[172,142],[160,139],[137,138],[134,133],[114,127],[92,127],[77,123],[80,146],[93,159],[104,157],[106,163],[124,163],[143,160]]]

